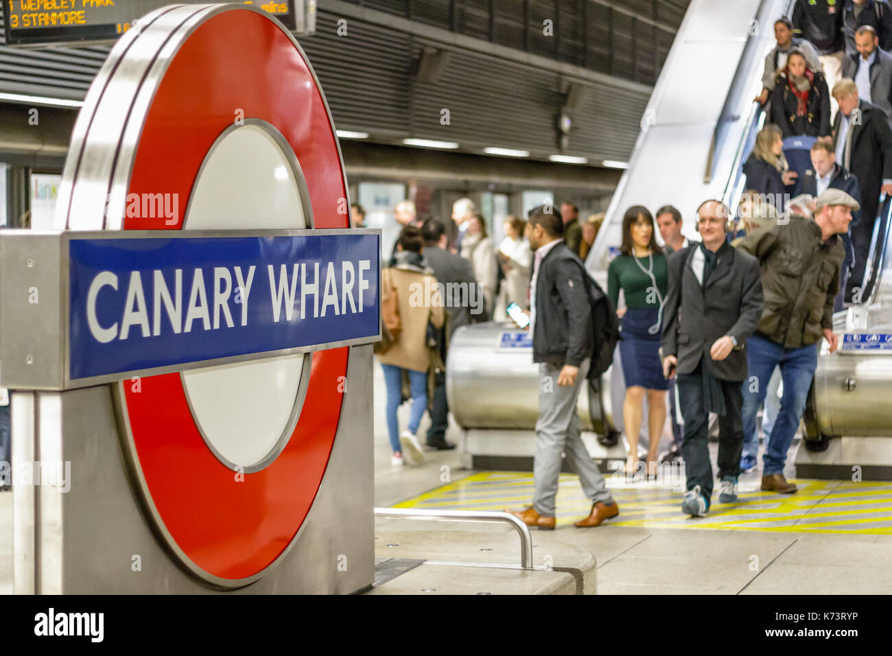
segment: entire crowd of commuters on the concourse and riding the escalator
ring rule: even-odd
[[[397,220],[406,228],[388,268],[395,278],[385,281],[384,295],[392,284],[402,311],[409,275],[433,275],[444,285],[475,286],[483,311],[467,312],[471,295],[441,299],[445,313],[432,307],[411,318],[408,311],[401,315],[404,328],[407,321],[419,326],[412,330],[411,349],[381,355],[394,463],[402,455],[407,461],[424,458],[415,436],[428,403],[420,381],[425,373],[430,378],[432,361],[442,367],[451,332],[459,324],[498,320],[508,307],[517,307],[529,311],[542,384],[533,505],[512,512],[529,526],[555,526],[563,453],[592,502],[589,517],[576,525],[598,526],[614,517],[618,508],[582,444],[575,411],[582,381],[603,357],[599,339],[603,345],[606,333],[592,326],[610,323],[597,313],[608,307],[621,336],[616,351],[625,385],[626,476],[634,477],[640,464],[647,403],[646,476],[657,477],[658,461],[683,460],[682,510],[705,516],[716,479],[708,450],[710,420],[717,419],[718,502],[737,502],[739,474],[758,465],[757,415],[764,407],[762,489],[797,491],[784,469],[818,345],[825,340],[830,353],[836,351],[833,312],[863,300],[880,198],[892,195],[892,54],[886,52],[892,47],[892,7],[887,0],[800,0],[792,20],[775,22],[774,36],[756,97],[764,105],[765,125],[743,165],[746,191],[737,211],[706,200],[697,210],[695,241],[682,234],[682,215],[673,205],[656,215],[644,206],[630,207],[619,253],[607,269],[606,294],[582,264],[603,214],[581,222],[579,208],[567,202],[559,211],[538,207],[528,221],[509,216],[496,249],[468,198],[453,204],[451,243],[451,231],[441,222],[428,220],[419,231],[414,206],[411,212],[403,208]],[[416,238],[416,232],[424,237]],[[442,338],[432,338],[441,326]],[[408,336],[403,329],[400,339]],[[425,359],[425,351],[437,358]],[[607,355],[613,357],[612,348]],[[408,385],[399,368],[408,372]],[[545,381],[552,379],[557,386],[549,388]],[[408,430],[400,433],[395,407],[406,395],[402,387],[409,389],[413,408]],[[444,437],[444,386],[436,388],[442,395],[437,402],[433,393],[427,444],[451,448]],[[668,452],[659,454],[667,414],[673,438]]]

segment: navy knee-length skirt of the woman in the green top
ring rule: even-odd
[[[619,353],[623,359],[625,386],[640,386],[645,389],[669,388],[663,378],[660,363],[660,335],[648,333],[648,328],[657,323],[657,310],[651,308],[625,311],[622,320],[623,339],[619,343]]]

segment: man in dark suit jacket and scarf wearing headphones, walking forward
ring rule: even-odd
[[[687,494],[681,510],[706,517],[713,493],[709,413],[719,416],[719,502],[737,501],[743,449],[741,383],[747,378],[747,339],[762,315],[759,262],[728,244],[731,211],[706,201],[697,211],[703,242],[669,258],[663,308],[662,358],[666,378],[678,374]]]

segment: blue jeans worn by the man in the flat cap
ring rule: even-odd
[[[765,400],[772,371],[780,365],[783,396],[780,411],[774,419],[768,446],[762,457],[762,475],[782,474],[789,445],[799,428],[805,411],[808,389],[812,386],[814,370],[818,367],[816,344],[799,348],[784,348],[763,336],[754,335],[747,341],[747,380],[743,382],[743,434],[756,432],[756,413]]]

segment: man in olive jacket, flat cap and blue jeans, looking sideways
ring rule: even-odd
[[[762,459],[762,489],[793,493],[797,486],[783,476],[787,451],[799,428],[805,399],[818,365],[817,344],[824,337],[830,353],[833,302],[845,233],[858,203],[839,189],[827,189],[816,201],[814,220],[788,214],[740,239],[737,247],[756,256],[762,269],[764,310],[747,341],[749,378],[743,383],[743,432],[756,431],[756,412],[768,381],[780,366],[783,398]]]

